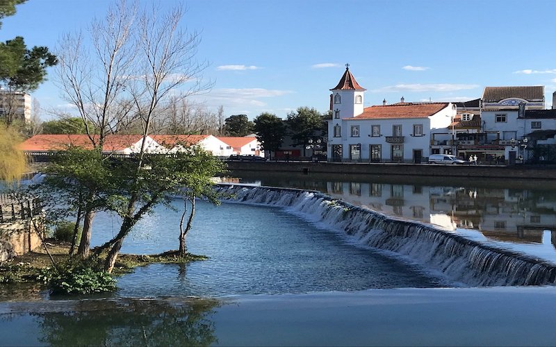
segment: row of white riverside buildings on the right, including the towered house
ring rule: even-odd
[[[333,162],[419,163],[447,153],[513,164],[543,159],[533,144],[556,144],[550,133],[556,110],[545,110],[543,86],[485,87],[482,98],[466,103],[406,103],[402,97],[365,108],[365,89],[347,67],[331,92],[327,157]]]

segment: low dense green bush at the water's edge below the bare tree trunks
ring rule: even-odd
[[[110,273],[91,264],[70,261],[58,267],[59,271],[43,269],[39,276],[52,294],[92,294],[116,289],[116,280]]]

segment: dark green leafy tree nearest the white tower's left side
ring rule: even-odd
[[[312,137],[322,136],[325,129],[324,117],[315,108],[297,108],[297,112],[288,115],[286,122],[292,139],[303,146]]]

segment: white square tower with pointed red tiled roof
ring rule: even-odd
[[[330,91],[332,119],[350,118],[363,113],[365,88],[361,87],[350,72],[350,65],[345,65],[345,72],[336,87]]]

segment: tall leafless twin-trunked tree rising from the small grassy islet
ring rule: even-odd
[[[65,100],[78,110],[92,146],[103,150],[106,135],[134,132],[144,135],[136,170],[145,153],[146,135],[158,115],[187,96],[208,90],[197,62],[199,33],[181,30],[183,10],[176,7],[161,15],[156,6],[140,10],[138,1],[120,0],[106,17],[88,27],[92,49],[85,48],[83,33],[63,36],[58,47],[60,63],[57,83]],[[94,124],[95,129],[90,129]],[[96,135],[95,135],[96,134]],[[87,257],[92,219],[99,206],[90,189],[83,203],[83,237],[78,255]],[[141,203],[137,192],[129,192],[122,215],[122,228],[108,242],[106,268],[111,270],[122,241],[131,226],[151,206]]]

